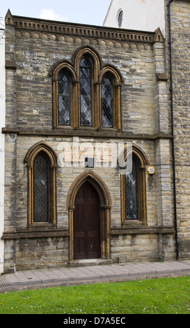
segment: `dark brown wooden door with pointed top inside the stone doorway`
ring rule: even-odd
[[[73,237],[74,260],[100,258],[100,200],[88,181],[75,198]]]

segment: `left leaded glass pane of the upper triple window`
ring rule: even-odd
[[[70,126],[70,79],[64,71],[58,76],[58,125]]]

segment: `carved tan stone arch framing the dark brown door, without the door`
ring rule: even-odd
[[[101,223],[101,258],[110,258],[110,241],[109,241],[109,230],[110,230],[110,211],[112,207],[111,195],[109,189],[104,184],[104,181],[95,172],[87,170],[82,173],[74,180],[70,186],[67,198],[67,209],[69,216],[69,231],[70,231],[70,260],[73,260],[73,211],[74,201],[79,191],[79,188],[86,182],[89,181],[93,185],[97,195],[100,199],[100,223]]]

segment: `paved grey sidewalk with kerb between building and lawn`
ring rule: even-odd
[[[0,293],[58,285],[133,281],[164,276],[190,276],[190,260],[130,262],[125,264],[17,271],[15,274],[0,275]]]

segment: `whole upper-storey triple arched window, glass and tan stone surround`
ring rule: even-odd
[[[72,61],[58,62],[50,75],[54,129],[121,130],[123,79],[94,49],[79,48]]]

